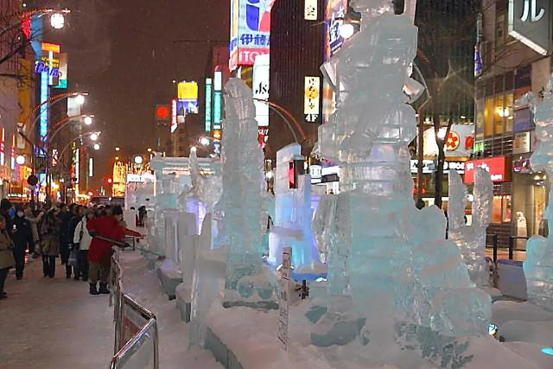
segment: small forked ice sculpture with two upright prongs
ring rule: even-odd
[[[472,225],[465,225],[467,191],[461,175],[449,173],[449,235],[461,249],[472,282],[480,288],[489,287],[489,270],[486,265],[486,228],[492,219],[493,183],[489,173],[476,168],[474,173],[474,199]]]

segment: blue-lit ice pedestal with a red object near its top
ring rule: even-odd
[[[284,247],[289,246],[295,273],[311,274],[324,268],[311,231],[311,176],[302,174],[303,163],[299,144],[276,152],[275,219],[269,235],[268,260],[279,266]]]

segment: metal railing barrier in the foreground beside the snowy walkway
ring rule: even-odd
[[[155,314],[124,293],[118,252],[111,259],[109,305],[115,323],[111,369],[159,369],[158,324]]]

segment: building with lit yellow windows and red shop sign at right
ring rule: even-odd
[[[549,181],[545,173],[530,168],[529,158],[536,148],[533,114],[530,106],[517,101],[528,92],[540,96],[553,71],[553,9],[541,12],[537,2],[537,9],[528,9],[532,17],[525,17],[525,4],[531,2],[482,1],[475,58],[478,160],[473,164],[489,168],[494,181],[492,224],[487,232],[498,235],[500,246],[513,242],[519,248],[525,241],[511,237],[544,231]]]

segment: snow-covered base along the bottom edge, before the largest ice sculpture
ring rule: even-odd
[[[305,307],[304,307],[305,304]],[[207,314],[206,348],[226,368],[230,369],[413,369],[439,368],[440,362],[430,364],[417,350],[400,350],[386,347],[388,360],[379,356],[370,357],[367,351],[370,343],[363,346],[354,340],[345,346],[316,347],[310,342],[310,323],[305,319],[306,303],[290,308],[289,351],[285,352],[276,338],[276,311],[257,311],[247,308],[225,309],[213,304]],[[460,337],[459,341],[465,339]],[[514,343],[514,342],[513,342]],[[528,346],[530,347],[530,346]],[[510,350],[492,337],[469,339],[468,349],[463,357],[471,357],[464,365],[452,365],[447,361],[445,368],[550,368],[542,365],[539,347],[532,346],[534,355],[519,355],[520,349]],[[433,355],[434,352],[431,352]],[[440,358],[439,358],[440,359]],[[553,360],[553,358],[551,358]],[[550,365],[550,363],[546,363]]]

